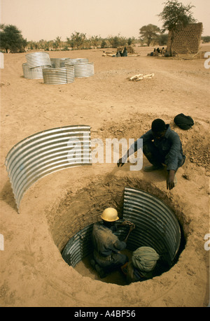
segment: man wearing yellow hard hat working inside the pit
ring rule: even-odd
[[[127,238],[135,226],[131,222],[124,221],[122,224],[130,225],[130,229],[125,240],[120,241],[118,236],[114,234],[115,223],[119,220],[116,209],[106,208],[101,217],[102,222],[94,223],[92,229],[94,259],[91,260],[91,264],[99,273],[100,278],[104,278],[108,273],[128,262],[128,257],[120,251],[125,250]]]

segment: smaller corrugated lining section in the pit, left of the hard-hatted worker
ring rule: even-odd
[[[119,220],[118,222],[123,222],[123,220]],[[74,267],[78,262],[87,257],[87,255],[92,254],[92,227],[93,224],[84,227],[66,243],[62,251],[62,258],[67,264]],[[119,228],[116,235],[122,240],[125,239],[127,228]]]

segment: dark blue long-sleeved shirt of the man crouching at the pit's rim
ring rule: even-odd
[[[167,131],[162,140],[155,139],[152,130],[147,131],[146,134],[142,135],[140,138],[143,138],[143,146],[148,142],[154,141],[155,147],[158,148],[160,155],[165,159],[167,170],[170,171],[171,169],[174,169],[174,171],[176,171],[176,169],[183,164],[186,156],[183,155],[179,135],[170,128],[169,124],[167,124],[166,127]],[[135,152],[137,151],[137,141],[132,145]]]

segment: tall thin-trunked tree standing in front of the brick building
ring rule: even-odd
[[[162,31],[166,30],[171,32],[171,43],[169,48],[169,54],[172,56],[172,46],[174,43],[174,36],[176,31],[185,28],[188,24],[196,22],[191,9],[195,7],[190,4],[183,6],[181,2],[177,0],[165,2],[165,7],[162,10],[162,13],[158,15],[160,20],[163,21]]]

